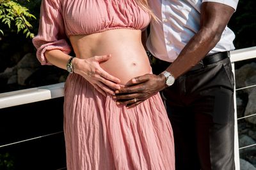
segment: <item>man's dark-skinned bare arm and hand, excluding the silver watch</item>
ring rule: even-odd
[[[226,4],[202,3],[200,29],[184,46],[177,59],[166,69],[178,78],[202,60],[220,41],[221,34],[227,26],[234,8]],[[116,90],[117,104],[136,106],[166,88],[163,74],[145,74],[133,78],[130,86]],[[124,93],[124,95],[123,95]],[[136,100],[134,100],[136,99]]]

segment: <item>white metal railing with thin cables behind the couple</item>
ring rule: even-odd
[[[230,52],[230,55],[231,55],[230,60],[232,62],[233,73],[235,74],[234,62],[256,58],[256,46],[250,47],[250,48],[243,48],[240,50],[234,50]],[[256,85],[253,85],[252,87],[255,87],[255,86]],[[36,87],[31,89],[2,93],[0,94],[0,109],[12,107],[12,106],[18,106],[20,104],[35,103],[35,102],[44,101],[47,99],[54,99],[56,97],[63,97],[63,94],[64,94],[63,88],[64,88],[64,83],[57,83],[54,85],[47,85],[43,87]],[[243,89],[245,88],[250,88],[250,87],[243,87]],[[241,90],[241,89],[237,89],[237,90]],[[234,94],[234,103],[236,104],[236,91]],[[235,157],[236,157],[236,169],[239,170],[240,169],[239,149],[243,149],[244,147],[250,147],[250,146],[244,146],[243,148],[239,148],[238,134],[237,134],[236,106],[235,106],[235,120],[236,120],[235,121],[236,122],[235,123]],[[59,133],[59,132],[56,132],[56,133]],[[54,135],[54,134],[49,134],[49,135]],[[46,135],[46,136],[49,136],[49,135]],[[38,139],[42,137],[44,136],[39,136],[31,139]],[[28,140],[29,139],[24,141],[28,141]],[[21,143],[24,141],[17,141],[16,143]],[[15,143],[8,144],[8,145],[14,145],[14,144]],[[1,147],[3,146],[0,146],[0,148]]]

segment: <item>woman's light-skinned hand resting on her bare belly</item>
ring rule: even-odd
[[[108,60],[111,55],[94,56],[88,59],[75,58],[72,62],[74,72],[83,76],[95,89],[106,96],[106,92],[115,95],[120,89],[120,80],[100,67],[100,62]]]

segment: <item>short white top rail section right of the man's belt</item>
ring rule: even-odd
[[[256,58],[256,46],[231,51],[230,55],[231,62]]]

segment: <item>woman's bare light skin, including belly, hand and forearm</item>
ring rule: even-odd
[[[136,76],[151,73],[147,53],[141,43],[141,30],[112,29],[89,35],[70,36],[76,58],[74,73],[88,80],[106,96],[129,85]],[[61,50],[45,52],[48,62],[66,69],[70,55]]]

